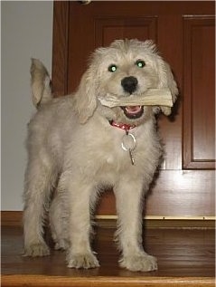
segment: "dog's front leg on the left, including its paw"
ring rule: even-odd
[[[95,196],[90,184],[82,184],[78,178],[70,179],[69,188],[69,238],[67,261],[70,268],[95,268],[99,262],[90,247],[90,205]]]

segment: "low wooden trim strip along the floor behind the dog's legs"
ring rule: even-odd
[[[97,215],[95,221],[101,227],[115,227],[117,215]],[[215,228],[214,216],[147,215],[144,222],[146,228]],[[1,211],[1,225],[23,225],[23,211]]]

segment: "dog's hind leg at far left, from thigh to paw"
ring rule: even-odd
[[[43,239],[43,225],[46,209],[49,206],[50,193],[55,175],[52,166],[44,158],[33,158],[25,173],[25,188],[23,194],[23,234],[24,255],[44,256],[50,250]]]

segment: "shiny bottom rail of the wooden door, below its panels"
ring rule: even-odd
[[[162,170],[148,193],[144,213],[160,217],[212,216],[214,194],[206,190],[214,188],[214,170]],[[98,215],[115,214],[115,198],[109,191],[99,202]]]

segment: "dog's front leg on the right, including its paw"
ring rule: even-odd
[[[114,188],[117,199],[117,241],[122,252],[119,263],[130,271],[157,269],[155,257],[142,245],[142,182],[123,180]]]

